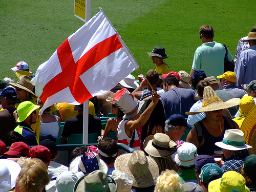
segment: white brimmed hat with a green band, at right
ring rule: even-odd
[[[245,144],[244,133],[241,130],[226,130],[223,140],[215,143],[217,146],[225,150],[239,151],[252,146]]]

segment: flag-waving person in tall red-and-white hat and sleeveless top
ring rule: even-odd
[[[117,142],[124,143],[134,150],[140,150],[140,141],[136,129],[143,126],[150,117],[160,96],[157,92],[152,94],[153,101],[140,115],[144,101],[136,99],[127,89],[121,89],[113,98],[113,102],[124,113],[123,120],[117,128]]]

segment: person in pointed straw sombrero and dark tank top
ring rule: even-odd
[[[186,139],[187,142],[196,145],[199,155],[222,157],[222,155],[214,154],[214,150],[220,150],[215,143],[222,141],[226,130],[239,129],[236,122],[223,116],[223,109],[236,106],[239,103],[239,98],[223,102],[210,86],[204,88],[202,108],[197,112],[186,112],[187,115],[195,115],[201,112],[206,114],[204,119],[194,124]]]

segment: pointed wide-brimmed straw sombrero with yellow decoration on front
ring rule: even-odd
[[[223,102],[210,86],[206,86],[204,88],[202,108],[196,112],[186,112],[186,115],[195,115],[202,112],[227,109],[231,108],[231,106],[239,105],[239,103],[239,98],[232,98]]]

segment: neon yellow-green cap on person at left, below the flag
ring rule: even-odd
[[[18,122],[22,122],[27,119],[30,114],[37,110],[40,106],[35,105],[30,101],[24,101],[18,105],[17,114],[18,114]]]

